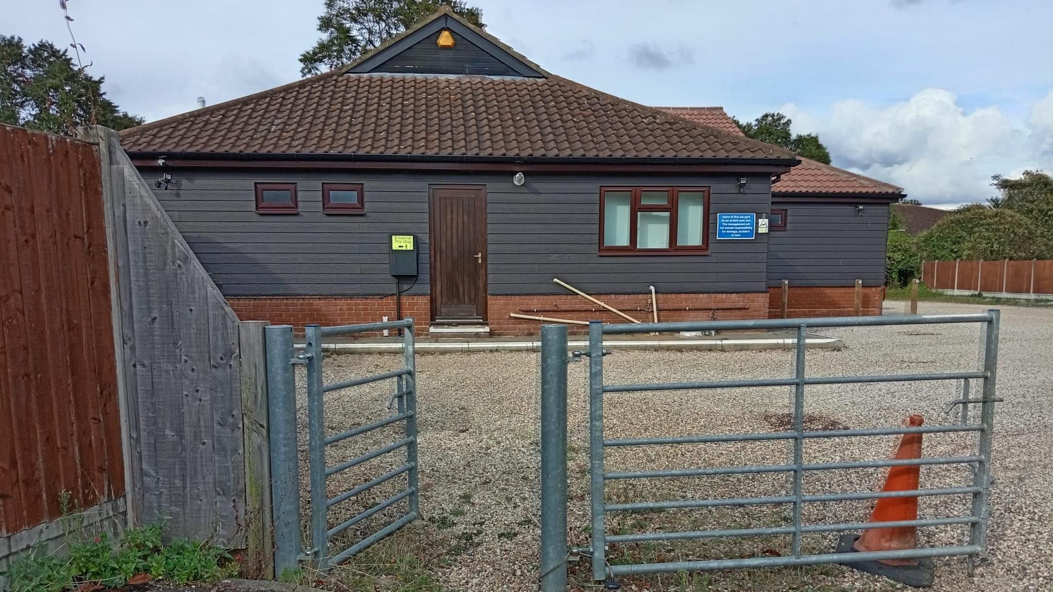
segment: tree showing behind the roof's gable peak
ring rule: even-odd
[[[300,75],[351,63],[441,6],[450,6],[479,28],[486,26],[482,11],[464,0],[325,0],[325,11],[318,17],[322,38],[300,54]]]

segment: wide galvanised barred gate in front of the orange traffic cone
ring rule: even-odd
[[[809,377],[804,368],[806,330],[809,328],[829,327],[875,327],[902,324],[945,324],[945,323],[980,323],[984,336],[982,369],[976,372],[945,372],[933,374],[899,374],[873,376],[831,376]],[[716,380],[703,382],[676,382],[652,384],[604,384],[603,383],[603,336],[611,334],[680,332],[680,331],[734,331],[758,329],[796,329],[796,372],[794,376],[767,379]],[[565,344],[564,351],[565,351]],[[553,351],[555,348],[553,348]],[[647,574],[661,572],[701,571],[734,568],[759,568],[781,566],[806,566],[815,564],[832,564],[845,561],[879,560],[892,558],[921,558],[933,556],[982,555],[987,544],[986,519],[988,512],[988,495],[990,488],[991,437],[994,418],[995,377],[998,354],[998,311],[988,311],[984,314],[963,315],[922,315],[922,316],[885,316],[885,317],[838,317],[811,319],[768,319],[746,321],[711,321],[711,322],[673,322],[673,323],[639,323],[639,324],[603,324],[595,321],[589,328],[589,400],[590,400],[590,473],[592,502],[592,544],[593,578],[603,579],[608,576],[624,574]],[[551,354],[555,356],[555,353]],[[565,355],[565,354],[560,354]],[[548,358],[544,358],[548,359]],[[979,404],[979,421],[963,422],[956,426],[936,427],[896,427],[886,429],[837,430],[837,431],[804,431],[804,392],[809,384],[845,384],[859,382],[900,382],[920,380],[982,380],[982,395],[979,398],[968,398],[962,404]],[[750,387],[793,387],[794,412],[793,431],[774,433],[730,434],[730,435],[698,435],[665,438],[633,438],[603,439],[603,398],[609,395],[640,391],[670,391],[695,389],[728,389]],[[542,384],[542,393],[545,386]],[[967,391],[968,392],[968,391]],[[543,395],[542,395],[543,396]],[[962,402],[962,401],[959,401]],[[966,415],[962,415],[966,417]],[[542,423],[543,426],[543,423]],[[946,432],[976,432],[979,434],[979,447],[976,454],[968,456],[922,457],[917,459],[881,459],[848,462],[802,461],[804,441],[812,438],[841,438],[852,436],[881,436],[897,434],[931,434]],[[545,436],[542,435],[542,441]],[[603,451],[613,447],[663,446],[677,443],[729,442],[751,440],[793,440],[793,462],[788,465],[767,465],[747,467],[698,468],[687,470],[655,470],[655,471],[621,471],[607,472],[603,468]],[[921,465],[971,465],[975,467],[973,484],[968,487],[919,489],[897,492],[858,492],[831,493],[823,495],[803,495],[802,482],[806,472],[829,471],[837,469],[880,468],[897,466]],[[775,497],[744,497],[736,499],[689,499],[676,501],[640,501],[631,504],[605,504],[603,484],[616,479],[642,479],[661,477],[688,477],[706,475],[736,475],[752,473],[793,473],[793,491],[790,495]],[[544,486],[542,485],[542,491]],[[971,511],[967,515],[901,521],[854,522],[831,525],[802,525],[801,509],[803,504],[816,501],[838,501],[877,499],[881,497],[960,495],[972,496]],[[665,510],[674,508],[715,508],[753,505],[793,505],[792,526],[773,528],[751,528],[735,530],[710,530],[698,532],[665,532],[644,534],[608,535],[604,529],[604,516],[608,512],[629,512]],[[545,516],[542,516],[544,519]],[[970,525],[968,545],[957,547],[940,547],[927,549],[875,551],[857,553],[828,553],[808,555],[801,553],[801,534],[816,532],[855,531],[862,529],[886,527],[926,527],[936,525]],[[644,540],[677,540],[728,536],[788,535],[793,537],[793,555],[781,557],[749,557],[715,560],[671,561],[658,564],[607,565],[607,545],[635,542]],[[545,545],[545,544],[543,544]],[[542,556],[544,556],[542,548]]]

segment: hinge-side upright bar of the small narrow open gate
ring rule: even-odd
[[[325,423],[322,411],[321,325],[304,328],[307,358],[307,450],[311,458],[311,547],[315,569],[325,571],[329,563],[329,529],[325,511]]]

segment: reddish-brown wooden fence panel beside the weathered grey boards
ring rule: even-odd
[[[124,494],[103,212],[95,145],[0,125],[0,536]]]

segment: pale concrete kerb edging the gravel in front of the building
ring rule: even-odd
[[[589,341],[571,340],[567,342],[570,350],[583,350]],[[605,339],[603,347],[610,350],[695,350],[715,352],[740,352],[747,350],[793,350],[797,347],[796,337],[758,337],[758,338],[727,338],[727,339]],[[302,343],[296,348],[302,349]],[[804,348],[810,350],[840,350],[845,340],[837,337],[810,334],[804,339]],[[455,341],[418,341],[415,349],[421,353],[464,353],[464,352],[537,352],[541,350],[540,340],[497,341],[489,339],[464,339]],[[402,343],[392,342],[350,342],[322,343],[322,350],[327,352],[380,354],[402,351]]]

